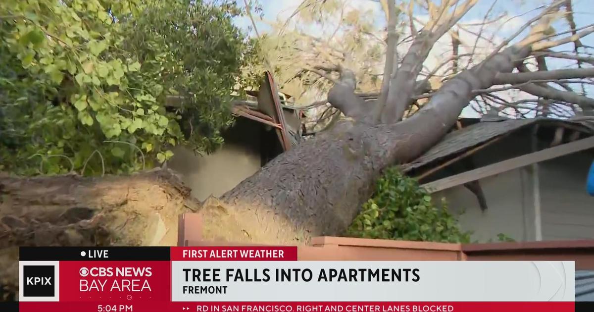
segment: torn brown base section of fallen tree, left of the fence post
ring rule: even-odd
[[[163,170],[0,177],[0,295],[18,291],[17,246],[176,245],[179,215],[194,205],[189,194]]]

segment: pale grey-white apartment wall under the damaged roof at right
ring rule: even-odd
[[[594,197],[586,192],[592,153],[574,153],[539,163],[541,227],[544,240],[594,238]],[[462,185],[433,194],[445,197],[450,210],[464,213],[460,225],[474,231],[472,239],[497,241],[503,233],[516,241],[534,241],[535,207],[530,166],[480,180],[488,209]]]

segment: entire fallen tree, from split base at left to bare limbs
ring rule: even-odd
[[[530,93],[532,87],[535,94],[548,90],[547,103],[571,106],[563,102],[565,97],[554,97],[561,91],[548,86],[550,81],[535,82],[530,75],[513,73],[533,55],[594,31],[589,26],[569,37],[551,35],[552,21],[571,14],[560,14],[567,1],[553,1],[484,61],[447,78],[439,89],[415,93],[416,77],[431,47],[476,2],[450,0],[435,5],[431,21],[415,30],[402,60],[394,62],[393,54],[386,56],[384,72],[391,74],[384,75],[377,100],[365,102],[356,95],[355,75],[342,64],[325,68],[326,75],[339,75],[332,78],[336,84],[328,102],[347,118],[195,209],[203,216],[204,238],[304,244],[314,236],[342,234],[372,194],[373,182],[383,169],[409,162],[437,143],[462,109],[476,96],[488,96],[495,84],[520,82],[516,88],[528,87],[525,91]],[[387,4],[388,16],[394,18],[393,1]],[[525,29],[530,29],[525,38],[507,46]],[[396,45],[394,36],[388,36],[387,45]],[[586,71],[574,75],[550,71],[534,76],[563,83],[567,77],[584,75]],[[428,102],[402,120],[419,95],[428,97]],[[177,215],[194,207],[188,189],[175,175],[160,170],[105,178],[5,177],[0,179],[0,194],[0,257],[9,262],[15,245],[175,244]]]

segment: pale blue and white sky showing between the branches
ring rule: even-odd
[[[357,8],[359,10],[371,10],[374,16],[374,24],[378,26],[378,28],[384,27],[386,24],[386,18],[384,15],[383,10],[381,9],[381,5],[373,0],[345,0],[347,1],[347,5],[349,7]],[[398,3],[399,0],[396,0]],[[242,3],[242,1],[239,1]],[[499,27],[497,31],[494,31],[498,34],[498,40],[503,40],[505,37],[510,36],[511,34],[515,33],[520,26],[522,26],[526,21],[530,20],[530,18],[535,17],[536,15],[541,12],[541,10],[534,10],[539,6],[545,5],[549,3],[549,0],[479,0],[478,4],[475,5],[463,19],[460,21],[461,23],[472,23],[482,21],[486,12],[488,12],[492,7],[492,12],[494,13],[503,13],[507,12],[508,17],[514,18],[504,18],[503,21],[500,21],[498,26],[490,26],[490,27]],[[282,20],[285,21],[295,8],[301,3],[301,0],[260,0],[261,7],[263,8],[263,17],[264,20]],[[578,27],[587,26],[591,23],[594,23],[594,0],[573,0],[573,8],[574,8],[574,18]],[[492,14],[497,15],[497,14]],[[516,15],[520,15],[515,17]],[[426,12],[419,11],[418,14],[415,15],[419,19],[427,18]],[[251,28],[251,21],[247,17],[236,18],[235,24],[244,29],[245,31],[249,31]],[[270,30],[270,26],[267,23],[263,23],[261,21],[257,21],[258,31],[260,33],[266,33]],[[477,26],[478,27],[478,26]],[[554,24],[556,30],[559,29],[567,29],[567,24],[564,20],[558,21]],[[311,34],[315,35],[319,29],[317,27],[311,27],[309,30]],[[474,42],[476,36],[473,36],[469,33],[460,33],[462,36],[462,40],[467,40],[467,42]],[[254,31],[251,31],[251,36],[255,36]],[[518,39],[521,39],[525,33],[520,34]],[[449,38],[444,38],[444,43],[450,43]],[[582,43],[584,45],[594,46],[594,34],[590,36],[586,36],[582,39]],[[497,44],[497,43],[495,43]],[[434,47],[434,52],[432,51],[432,55],[429,56],[426,65],[431,68],[433,63],[438,64],[440,59],[443,56],[440,55],[443,51],[449,51],[451,48],[449,46],[443,46],[443,49],[440,49],[440,43],[438,43]],[[571,51],[573,50],[573,44],[568,44],[565,46],[560,46],[557,48],[557,51]],[[463,53],[463,52],[461,52]],[[558,60],[557,59],[548,59],[549,69],[558,69],[558,68],[567,68],[574,65],[572,61],[565,61],[565,60]],[[594,90],[593,90],[594,92]],[[510,96],[519,96],[519,93],[510,93]],[[521,95],[521,94],[520,94]],[[465,109],[463,115],[476,115],[472,109]]]

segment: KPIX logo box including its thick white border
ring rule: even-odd
[[[58,267],[58,261],[21,261],[20,301],[58,301]]]

